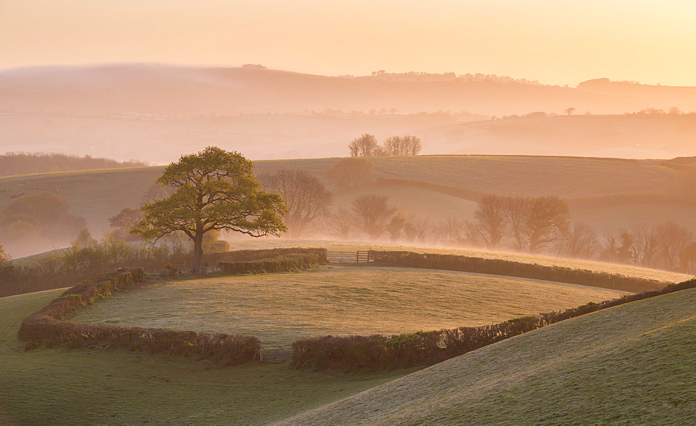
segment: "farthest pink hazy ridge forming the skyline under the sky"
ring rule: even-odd
[[[116,64],[0,72],[0,110],[17,112],[191,117],[396,108],[401,113],[469,110],[505,115],[530,110],[560,113],[569,106],[595,113],[663,107],[550,85],[466,78],[345,78],[263,67]]]

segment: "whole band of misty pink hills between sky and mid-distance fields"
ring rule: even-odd
[[[255,160],[320,158],[346,155],[349,140],[372,133],[416,135],[424,154],[696,154],[693,116],[622,115],[696,110],[695,88],[511,81],[142,64],[8,69],[0,72],[0,150],[161,164],[217,145]],[[577,115],[543,116],[569,107]]]

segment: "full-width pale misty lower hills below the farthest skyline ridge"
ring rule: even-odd
[[[214,145],[255,160],[347,156],[370,133],[414,135],[422,154],[695,156],[696,115],[549,115],[498,120],[419,114],[260,114],[154,120],[0,113],[0,152],[88,154],[166,164]]]

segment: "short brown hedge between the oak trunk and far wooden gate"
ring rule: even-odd
[[[219,262],[222,270],[226,274],[243,274],[253,273],[262,274],[267,272],[283,272],[296,271],[312,268],[320,264],[328,263],[326,261],[326,249],[312,249],[310,254],[290,253],[281,256],[276,256],[273,259],[260,259],[250,261],[221,261]],[[314,252],[322,250],[318,255]],[[323,261],[322,261],[323,259]]]

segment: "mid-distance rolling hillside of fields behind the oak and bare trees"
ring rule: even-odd
[[[374,181],[344,192],[334,190],[336,207],[347,208],[358,195],[374,193],[387,195],[390,204],[411,217],[420,215],[440,220],[471,218],[475,203],[485,193],[558,195],[567,199],[576,220],[587,222],[599,231],[666,220],[696,230],[692,207],[683,198],[688,172],[667,167],[660,161],[539,156],[416,156],[371,160],[375,164]],[[326,181],[324,171],[336,161],[338,158],[256,161],[255,173],[306,170],[333,188]],[[3,177],[0,190],[29,194],[56,192],[68,199],[72,213],[84,216],[92,233],[98,236],[108,229],[109,217],[122,208],[141,204],[143,194],[161,170],[161,166],[153,166]],[[21,186],[21,182],[26,185]],[[9,202],[10,199],[0,199],[0,209]]]

